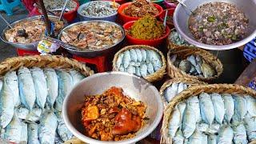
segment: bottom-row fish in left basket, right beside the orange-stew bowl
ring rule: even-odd
[[[57,133],[64,142],[73,137],[73,134],[67,129],[63,120],[58,121]]]

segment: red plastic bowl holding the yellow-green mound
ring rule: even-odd
[[[125,30],[130,30],[130,27],[134,25],[134,22],[126,22],[126,24],[123,25],[123,28]],[[131,45],[148,45],[148,46],[160,46],[163,42],[165,42],[166,38],[170,34],[170,29],[168,26],[166,26],[166,34],[164,34],[161,38],[153,39],[153,40],[145,40],[145,39],[138,39],[130,36],[126,33],[126,39],[127,42]]]

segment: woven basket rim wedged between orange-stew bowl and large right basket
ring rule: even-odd
[[[166,101],[166,98],[164,96],[164,92],[166,88],[171,86],[173,83],[180,83],[180,82],[186,83],[187,85],[190,85],[190,86],[198,86],[198,85],[206,84],[206,82],[198,81],[197,79],[191,79],[191,78],[173,78],[173,79],[167,80],[159,90],[159,93],[161,94],[162,102],[165,108],[168,105],[168,102]]]

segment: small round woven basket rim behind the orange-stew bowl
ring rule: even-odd
[[[147,75],[146,78],[145,78],[149,82],[154,82],[154,81],[161,80],[163,75],[166,74],[166,58],[160,50],[158,50],[158,49],[156,49],[152,46],[134,45],[134,46],[126,46],[126,47],[122,48],[121,50],[118,51],[118,53],[114,54],[113,71],[118,71],[118,68],[116,66],[116,62],[117,62],[119,54],[122,54],[124,51],[134,49],[134,48],[145,49],[145,50],[154,50],[154,51],[157,51],[158,54],[161,55],[161,57],[162,57],[162,67],[158,71],[156,71],[154,74]]]

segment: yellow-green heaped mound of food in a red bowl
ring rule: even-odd
[[[132,37],[145,40],[161,38],[165,33],[166,28],[162,22],[149,15],[138,19],[128,30],[128,34]]]

